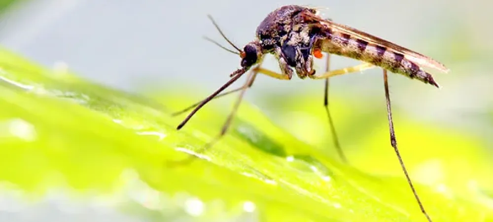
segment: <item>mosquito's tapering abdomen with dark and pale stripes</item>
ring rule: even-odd
[[[325,32],[316,47],[322,51],[361,60],[375,66],[382,67],[392,73],[403,74],[409,78],[416,78],[424,83],[439,87],[431,74],[409,61],[403,54],[394,52],[391,48],[368,43],[363,39],[353,38],[345,33]]]

